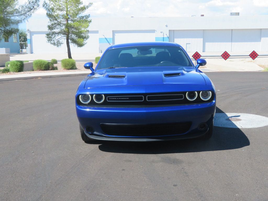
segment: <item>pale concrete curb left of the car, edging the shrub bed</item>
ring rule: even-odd
[[[12,80],[27,80],[49,77],[70,77],[70,76],[85,76],[90,74],[91,71],[78,71],[78,72],[55,72],[55,73],[31,73],[31,74],[19,74],[19,75],[3,75],[0,76],[0,81],[12,81]]]

